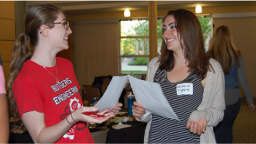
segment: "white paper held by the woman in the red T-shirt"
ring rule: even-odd
[[[105,93],[102,95],[102,98],[96,103],[95,106],[98,106],[98,111],[110,109],[118,103],[118,99],[122,94],[123,88],[126,86],[128,80],[127,76],[118,77],[114,76]]]

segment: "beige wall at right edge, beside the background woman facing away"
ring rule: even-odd
[[[234,45],[242,52],[250,90],[256,97],[256,17],[214,18],[214,30],[223,24],[230,27]]]

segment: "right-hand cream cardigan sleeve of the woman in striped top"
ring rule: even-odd
[[[214,71],[208,71],[206,75],[206,86],[203,92],[202,103],[198,110],[190,114],[189,120],[196,121],[199,118],[206,118],[207,126],[216,126],[222,121],[225,105],[225,82],[222,67],[218,62],[211,59]]]

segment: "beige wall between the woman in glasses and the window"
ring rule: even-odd
[[[118,75],[118,22],[73,23],[74,72],[78,82],[91,85],[94,77]]]

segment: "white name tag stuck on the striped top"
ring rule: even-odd
[[[182,83],[176,86],[177,95],[193,94],[193,83]]]

